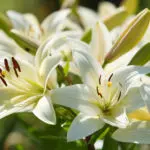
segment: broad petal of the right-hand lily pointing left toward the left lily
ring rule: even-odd
[[[86,85],[73,85],[51,91],[53,103],[70,107],[89,115],[98,115],[98,106],[94,105],[98,99],[92,92],[92,88]],[[92,104],[93,102],[93,104]]]

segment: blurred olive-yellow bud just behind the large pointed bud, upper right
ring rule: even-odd
[[[121,25],[127,17],[128,12],[123,7],[119,8],[118,11],[112,16],[109,16],[106,19],[104,19],[103,22],[107,26],[108,30],[112,30],[113,28]]]

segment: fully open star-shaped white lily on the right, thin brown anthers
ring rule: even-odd
[[[129,66],[108,75],[90,55],[73,53],[85,84],[51,93],[54,103],[80,111],[68,131],[68,141],[86,137],[101,129],[105,123],[125,128],[129,123],[126,112],[144,106],[139,92],[139,77],[149,72],[150,68]]]

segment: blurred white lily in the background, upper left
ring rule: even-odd
[[[33,14],[21,14],[16,11],[8,11],[7,15],[13,24],[13,29],[20,34],[34,39],[37,43],[42,42],[49,36],[64,30],[82,33],[79,25],[69,19],[70,9],[56,11],[43,20],[41,25]]]

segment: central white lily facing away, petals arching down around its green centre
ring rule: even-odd
[[[74,57],[76,56],[74,56],[74,52],[86,55],[89,47],[78,40],[78,37],[75,32],[65,32],[51,36],[51,38],[45,41],[45,48],[38,50],[36,57],[38,59],[37,64],[40,64],[47,56],[59,52],[63,55],[63,58],[67,59],[62,59],[61,65],[64,66],[69,61],[69,72],[79,75],[79,69],[75,65],[76,60]]]

